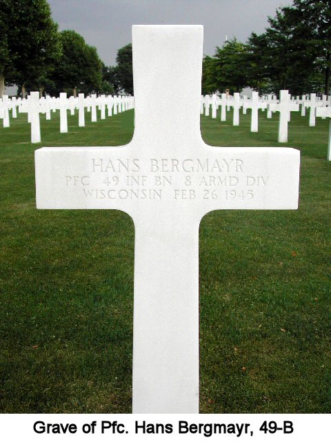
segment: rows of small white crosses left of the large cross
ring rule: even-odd
[[[17,108],[19,113],[28,114],[28,122],[31,124],[31,142],[41,142],[40,120],[41,113],[46,114],[46,119],[51,119],[51,113],[59,110],[60,112],[60,133],[68,132],[68,113],[74,115],[76,109],[79,110],[79,126],[85,126],[85,110],[91,114],[91,122],[97,122],[97,108],[101,111],[101,119],[106,119],[106,107],[108,117],[134,107],[134,97],[131,96],[112,96],[101,95],[97,97],[92,94],[84,97],[79,94],[78,97],[67,98],[66,93],[60,93],[59,97],[42,97],[39,99],[39,92],[32,92],[27,99],[9,99],[4,96],[0,101],[0,118],[3,118],[3,127],[10,126],[9,111],[12,110],[12,117],[17,117]]]

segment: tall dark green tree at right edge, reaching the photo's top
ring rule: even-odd
[[[329,7],[328,7],[329,5]],[[330,89],[330,0],[294,0],[248,39],[249,73],[268,90],[297,95]]]

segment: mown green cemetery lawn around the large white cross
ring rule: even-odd
[[[292,113],[298,211],[218,211],[200,227],[200,411],[331,412],[328,119]],[[281,146],[278,114],[201,117],[214,146]],[[130,413],[134,227],[120,211],[37,211],[34,149],[130,141],[133,111],[0,127],[0,412]]]

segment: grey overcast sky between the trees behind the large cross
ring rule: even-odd
[[[202,24],[203,53],[235,36],[245,41],[268,26],[268,15],[291,0],[48,0],[60,30],[73,29],[96,46],[106,65],[131,42],[132,24]]]

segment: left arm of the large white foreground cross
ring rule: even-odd
[[[134,179],[128,177],[139,179],[140,164],[128,146],[44,147],[35,151],[34,160],[37,209],[130,213],[132,200],[138,199],[132,193]]]

